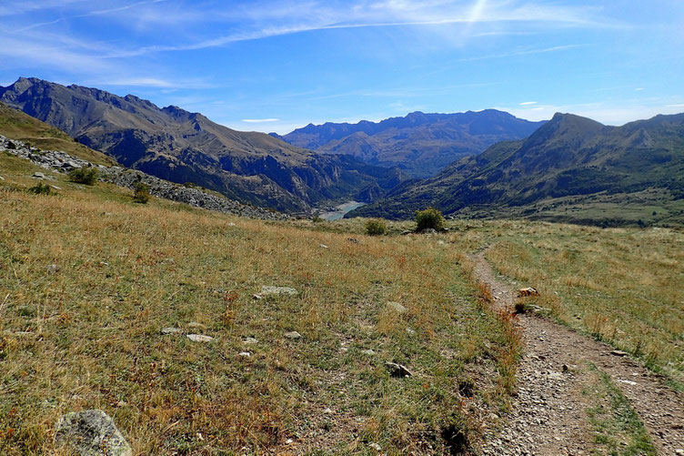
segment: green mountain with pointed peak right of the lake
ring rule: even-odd
[[[480,208],[492,215],[548,198],[649,188],[684,198],[684,114],[623,127],[557,114],[526,140],[499,143],[436,177],[405,183],[349,216],[410,218],[427,206],[446,214]]]

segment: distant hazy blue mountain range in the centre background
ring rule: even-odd
[[[428,177],[499,141],[528,137],[543,124],[495,109],[457,114],[414,112],[377,123],[309,124],[282,138],[320,153],[347,154],[377,166],[401,167],[412,177]]]

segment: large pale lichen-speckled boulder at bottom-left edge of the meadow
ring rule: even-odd
[[[55,446],[69,446],[80,456],[132,456],[114,420],[102,410],[66,413],[55,426]]]

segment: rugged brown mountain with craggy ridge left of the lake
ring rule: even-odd
[[[0,101],[60,128],[126,167],[229,198],[308,211],[329,198],[377,198],[401,180],[352,157],[320,156],[257,132],[238,132],[176,106],[136,96],[19,78]]]

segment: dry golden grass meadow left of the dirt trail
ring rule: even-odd
[[[21,190],[33,169],[0,160],[3,454],[51,453],[57,418],[90,408],[113,416],[136,454],[347,454],[371,441],[439,453],[441,430],[478,429],[458,392],[467,371],[498,372],[496,390],[475,379],[475,400],[514,379],[515,334],[438,238],[354,242],[304,222],[136,205],[63,177],[59,195],[34,196]],[[262,285],[299,293],[253,299]],[[292,330],[302,339],[284,338]],[[413,377],[391,378],[385,361]]]

